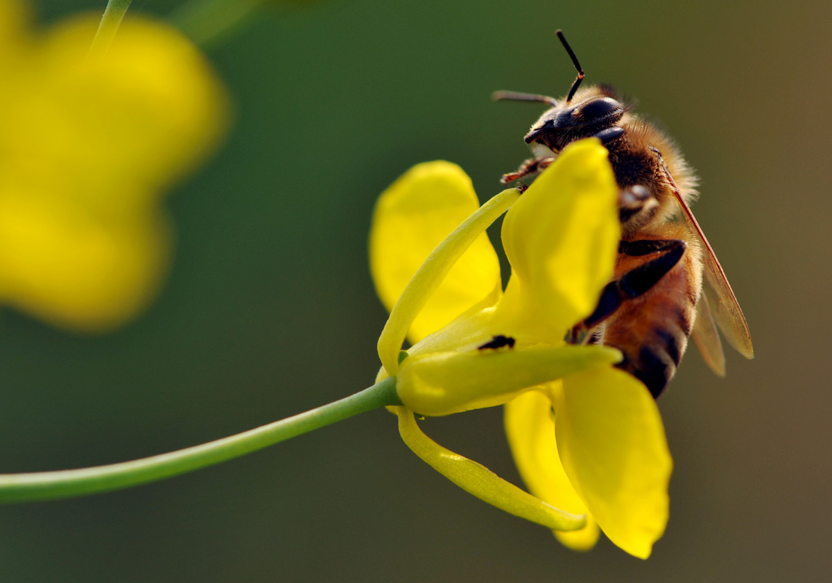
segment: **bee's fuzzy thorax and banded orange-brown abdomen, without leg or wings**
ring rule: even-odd
[[[590,87],[583,98],[610,93],[608,88]],[[684,222],[674,220],[678,214],[676,196],[666,170],[686,202],[696,198],[696,176],[676,146],[655,126],[630,111],[617,126],[624,133],[606,145],[616,181],[624,193],[643,186],[655,202],[631,211],[622,200],[622,240],[682,240],[686,249],[679,262],[651,289],[623,302],[594,335],[597,342],[621,350],[624,360],[619,367],[641,379],[657,396],[673,378],[685,354],[696,322],[704,269],[696,234]],[[651,147],[661,152],[666,170]],[[650,257],[619,253],[613,279],[622,279]]]

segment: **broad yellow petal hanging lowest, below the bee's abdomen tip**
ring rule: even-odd
[[[672,469],[655,400],[617,368],[572,375],[553,393],[572,486],[613,543],[646,559],[665,531]]]

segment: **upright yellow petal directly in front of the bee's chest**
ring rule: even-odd
[[[612,278],[621,229],[617,185],[597,139],[567,146],[503,222],[512,278],[495,320],[562,338]]]

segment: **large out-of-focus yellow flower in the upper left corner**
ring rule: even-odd
[[[225,91],[160,23],[123,22],[88,55],[100,16],[27,30],[0,0],[0,302],[98,331],[144,308],[169,262],[163,191],[225,129]]]

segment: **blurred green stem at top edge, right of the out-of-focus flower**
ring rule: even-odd
[[[191,0],[168,18],[174,26],[201,47],[243,26],[265,0]]]

